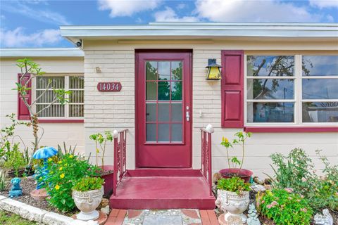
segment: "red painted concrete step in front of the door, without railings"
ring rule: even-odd
[[[212,210],[215,198],[197,169],[135,169],[127,172],[109,205],[132,210]]]

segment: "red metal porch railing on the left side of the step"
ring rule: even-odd
[[[113,195],[116,195],[116,189],[127,172],[126,166],[126,144],[127,144],[127,131],[113,131],[114,137],[114,176],[113,176]]]

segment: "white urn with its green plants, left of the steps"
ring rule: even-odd
[[[85,176],[73,186],[73,199],[76,207],[81,211],[77,219],[88,221],[99,218],[96,208],[100,205],[104,195],[104,179]]]

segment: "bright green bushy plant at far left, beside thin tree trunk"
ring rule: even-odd
[[[26,165],[23,153],[19,150],[19,144],[15,143],[13,149],[6,153],[6,161],[4,167],[6,169],[13,169],[15,176],[19,176],[19,170]]]

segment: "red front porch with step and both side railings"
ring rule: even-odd
[[[211,134],[201,129],[201,169],[126,168],[127,129],[114,131],[113,209],[213,210]]]

